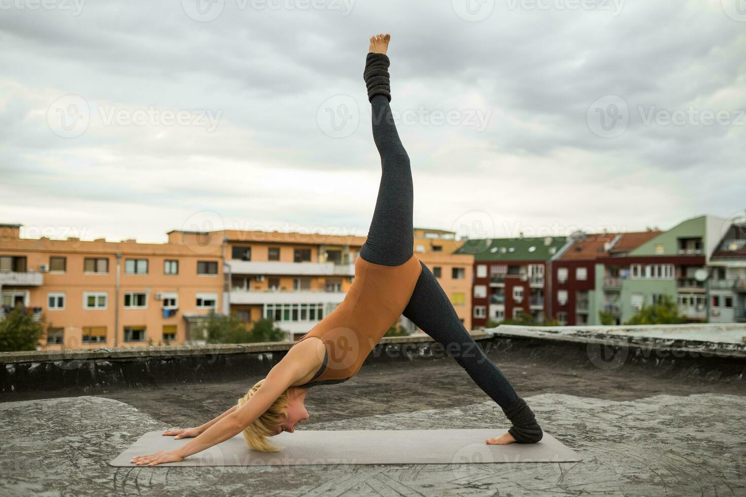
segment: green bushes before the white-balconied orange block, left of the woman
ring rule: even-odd
[[[274,321],[263,317],[254,322],[251,329],[247,323],[230,314],[221,316],[210,313],[210,318],[202,327],[208,344],[254,344],[257,342],[283,341],[286,333],[275,326]]]

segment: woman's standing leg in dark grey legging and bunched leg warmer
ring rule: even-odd
[[[474,383],[500,405],[513,423],[508,433],[515,441],[536,443],[542,440],[542,428],[531,409],[471,338],[433,273],[426,265],[421,265],[422,273],[404,316],[445,346],[448,355],[456,359]]]

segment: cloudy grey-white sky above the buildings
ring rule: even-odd
[[[0,222],[365,235],[389,32],[415,224],[662,229],[746,207],[736,0],[0,0]]]

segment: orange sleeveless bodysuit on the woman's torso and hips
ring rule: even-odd
[[[326,348],[324,364],[316,376],[300,386],[341,383],[355,376],[407,307],[421,270],[414,254],[398,266],[377,265],[358,256],[355,278],[345,300],[292,344],[318,337]]]

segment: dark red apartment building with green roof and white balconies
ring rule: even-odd
[[[548,262],[565,236],[487,238],[466,241],[457,253],[474,255],[472,325],[514,320],[521,313],[545,320]]]

